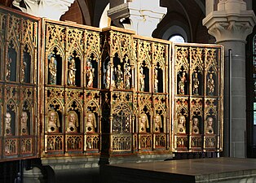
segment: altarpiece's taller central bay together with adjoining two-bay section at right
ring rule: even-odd
[[[169,150],[169,42],[120,28],[103,32],[103,152]]]

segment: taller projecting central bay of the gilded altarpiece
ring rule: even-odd
[[[135,123],[135,50],[132,33],[103,30],[102,152],[131,152]]]

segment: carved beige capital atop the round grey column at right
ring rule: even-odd
[[[218,11],[212,11],[203,20],[208,33],[220,41],[245,41],[252,33],[256,17],[254,11],[246,11],[241,0],[222,0]]]

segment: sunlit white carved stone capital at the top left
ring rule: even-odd
[[[60,20],[60,16],[68,11],[68,7],[73,2],[74,0],[14,0],[12,4],[24,13],[51,20]]]

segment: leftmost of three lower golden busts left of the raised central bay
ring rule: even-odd
[[[47,123],[47,132],[48,133],[59,133],[60,120],[58,112],[49,111],[48,112],[48,123]]]

